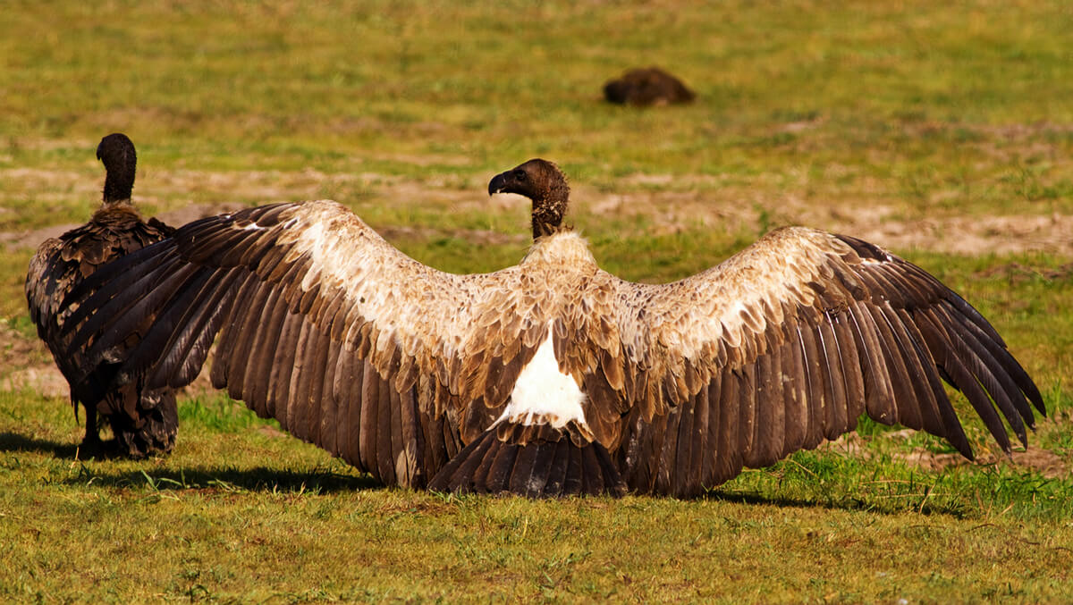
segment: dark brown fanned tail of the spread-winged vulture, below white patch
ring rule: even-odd
[[[626,483],[607,449],[577,427],[493,426],[452,458],[429,488],[530,498],[624,496]]]

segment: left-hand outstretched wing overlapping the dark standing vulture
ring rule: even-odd
[[[518,267],[427,267],[334,202],[279,204],[190,223],[95,274],[73,296],[73,346],[124,364],[120,381],[178,387],[215,340],[215,386],[421,487],[491,424],[546,333],[546,294],[525,284]]]

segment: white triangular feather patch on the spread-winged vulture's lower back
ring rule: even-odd
[[[505,419],[524,425],[550,424],[555,428],[562,428],[570,420],[577,420],[585,426],[585,412],[582,410],[585,394],[577,388],[572,377],[559,370],[552,331],[549,323],[547,337],[536,349],[532,360],[518,374],[514,390],[511,392],[511,401],[496,424]]]

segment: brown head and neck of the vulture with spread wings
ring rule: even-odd
[[[493,177],[488,195],[496,193],[517,193],[532,200],[533,239],[561,228],[570,202],[567,175],[553,162],[540,158]]]

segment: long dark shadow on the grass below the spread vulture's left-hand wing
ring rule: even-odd
[[[99,472],[84,467],[82,473],[65,482],[69,485],[93,485],[115,488],[149,486],[159,491],[202,489],[212,491],[282,491],[334,493],[382,488],[369,476],[340,474],[324,469],[290,471],[258,467],[253,469],[197,468],[153,469],[150,471]]]

